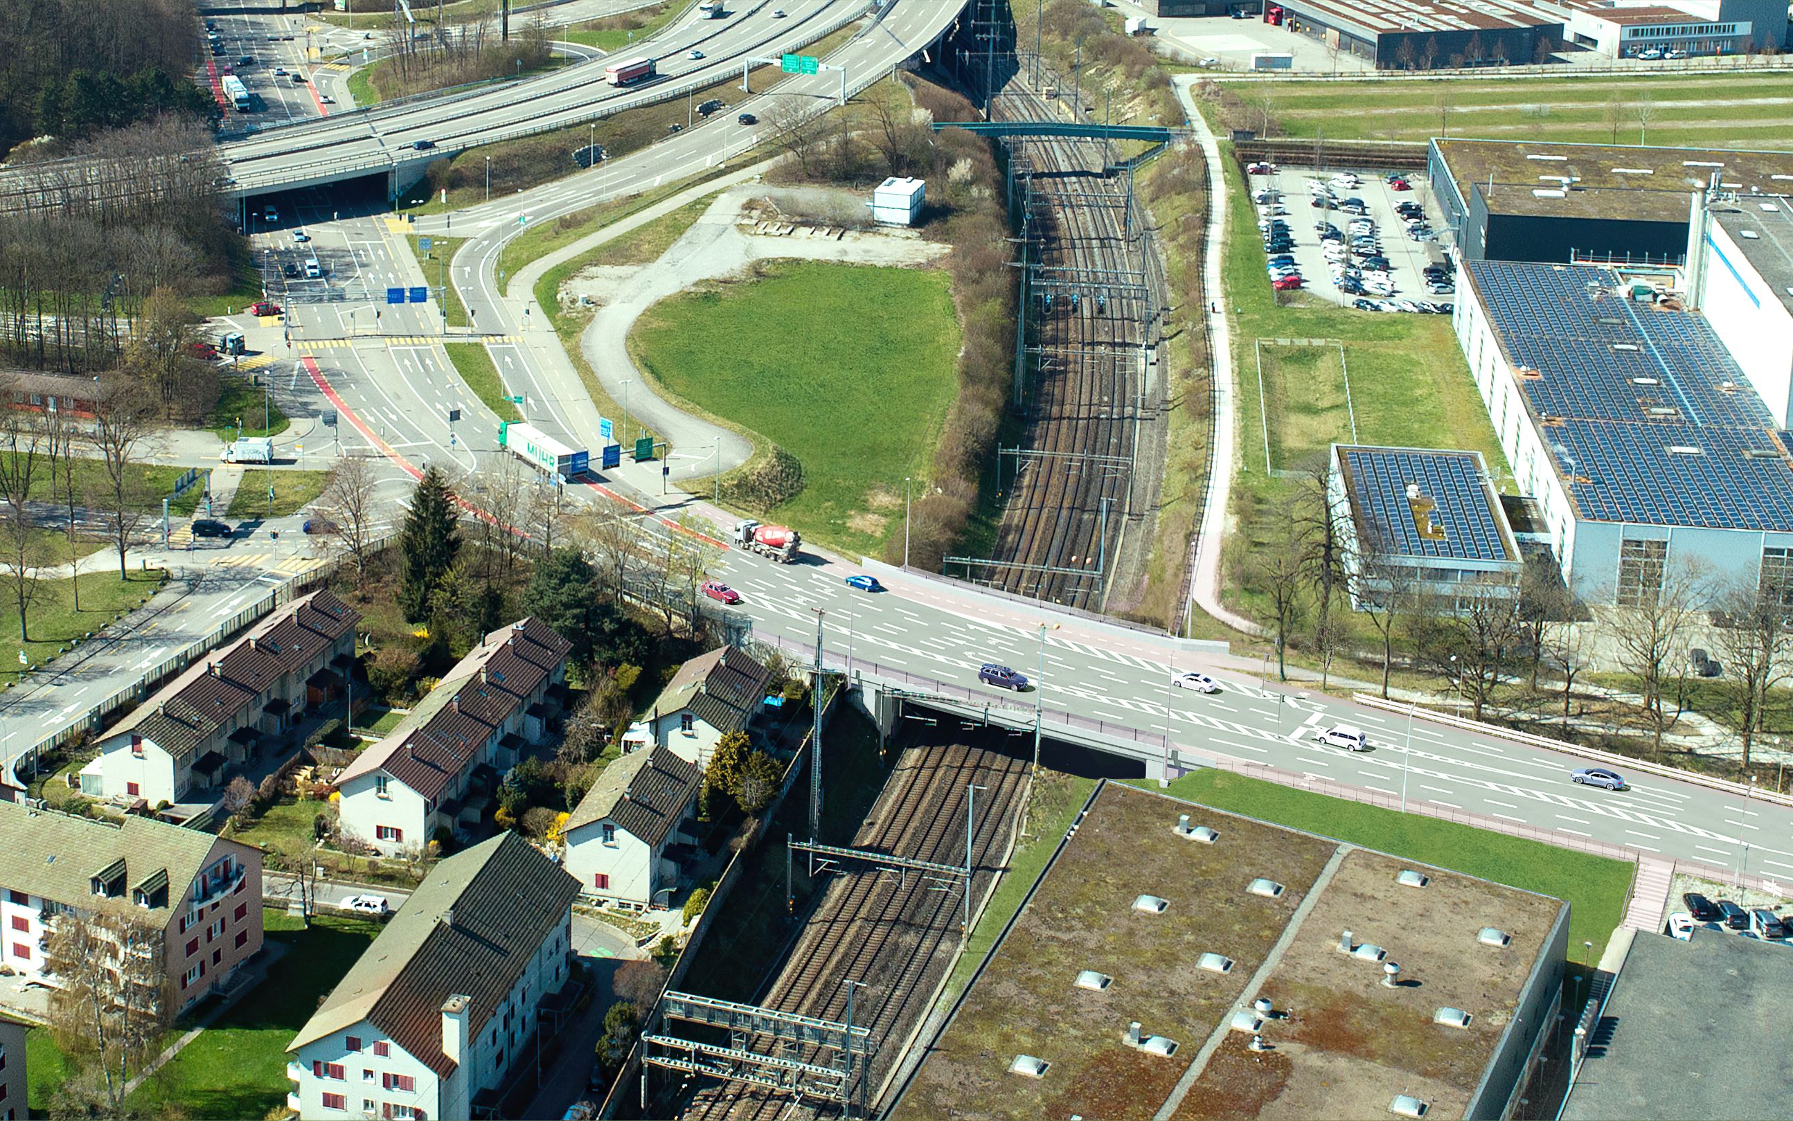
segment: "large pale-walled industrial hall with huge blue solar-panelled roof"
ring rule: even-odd
[[[1705,316],[1605,267],[1468,260],[1454,319],[1585,601],[1644,603],[1684,563],[1793,588],[1793,432]]]

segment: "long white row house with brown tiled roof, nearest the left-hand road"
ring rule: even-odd
[[[81,793],[158,805],[222,791],[233,766],[342,698],[359,621],[330,590],[274,608],[113,725]]]

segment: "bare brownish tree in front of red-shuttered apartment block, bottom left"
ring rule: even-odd
[[[122,1116],[126,1085],[172,1021],[161,927],[124,899],[97,899],[91,913],[52,922],[45,963],[61,983],[50,995],[56,1042],[95,1067],[108,1116]]]

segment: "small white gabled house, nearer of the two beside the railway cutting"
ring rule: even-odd
[[[678,856],[696,843],[697,764],[653,746],[611,760],[561,829],[579,891],[647,908],[678,888]]]

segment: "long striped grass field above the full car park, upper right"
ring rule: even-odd
[[[1230,86],[1253,111],[1260,86]],[[1578,140],[1793,149],[1793,74],[1732,68],[1687,77],[1273,83],[1269,115],[1289,136],[1334,140]],[[1648,127],[1639,106],[1648,102]]]

